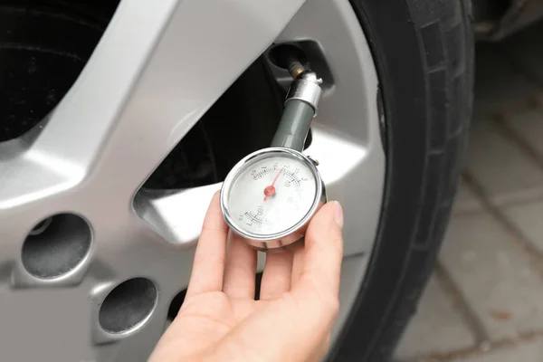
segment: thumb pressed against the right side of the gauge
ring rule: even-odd
[[[338,297],[343,257],[343,211],[338,202],[324,205],[313,217],[305,237],[299,284],[309,282],[321,296]]]

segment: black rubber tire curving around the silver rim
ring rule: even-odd
[[[386,189],[376,244],[329,353],[387,361],[443,239],[472,112],[467,0],[350,0],[376,62],[386,118]]]

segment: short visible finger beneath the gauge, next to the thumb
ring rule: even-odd
[[[292,252],[266,254],[262,274],[261,300],[274,300],[291,290]]]

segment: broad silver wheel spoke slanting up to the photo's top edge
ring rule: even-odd
[[[121,2],[34,148],[132,197],[302,3]]]

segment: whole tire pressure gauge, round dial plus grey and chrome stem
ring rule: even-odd
[[[271,148],[244,157],[224,180],[221,210],[233,233],[265,252],[303,238],[326,202],[316,162],[301,153],[320,97],[321,80],[296,71]]]

